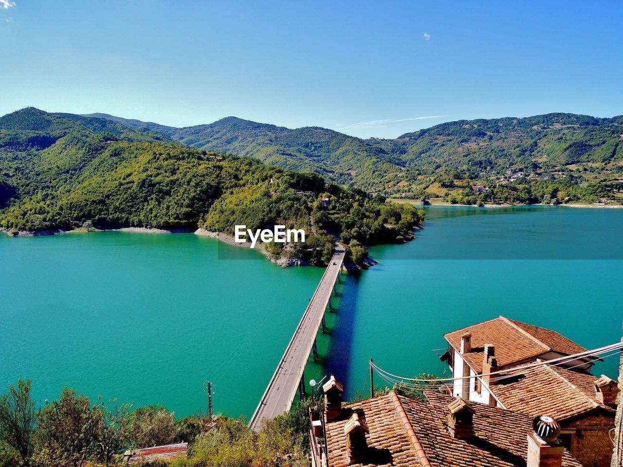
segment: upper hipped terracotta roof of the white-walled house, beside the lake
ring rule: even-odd
[[[471,333],[472,350],[464,355],[467,363],[482,373],[485,344],[495,346],[498,367],[508,367],[518,362],[529,361],[547,352],[573,355],[586,349],[562,334],[532,324],[521,323],[503,316],[467,328],[445,334],[445,339],[454,349],[460,351],[461,335]]]

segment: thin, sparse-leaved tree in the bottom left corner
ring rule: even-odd
[[[22,465],[30,465],[37,410],[31,399],[31,380],[17,380],[0,397],[0,440],[19,453]]]

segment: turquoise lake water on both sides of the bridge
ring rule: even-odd
[[[371,248],[380,264],[345,276],[306,379],[331,371],[353,395],[370,357],[395,374],[442,374],[443,334],[500,314],[587,348],[621,339],[623,210],[427,211],[417,240]],[[218,260],[220,248],[233,247],[193,234],[0,235],[0,388],[29,377],[41,401],[66,384],[183,416],[205,410],[211,380],[216,412],[250,416],[323,270],[242,248]],[[616,369],[611,357],[596,372]]]

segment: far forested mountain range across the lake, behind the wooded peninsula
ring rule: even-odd
[[[107,118],[133,128],[162,131],[196,148],[314,171],[388,196],[449,199],[456,195],[475,200],[468,192],[474,184],[503,185],[497,195],[484,197],[485,202],[496,197],[513,202],[547,197],[594,202],[621,196],[623,116],[550,113],[459,120],[396,139],[359,139],[318,127],[290,130],[235,117],[186,128]],[[537,185],[541,187],[533,193]]]

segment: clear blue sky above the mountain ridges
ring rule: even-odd
[[[224,116],[395,138],[623,114],[623,2],[0,0],[0,114]]]

